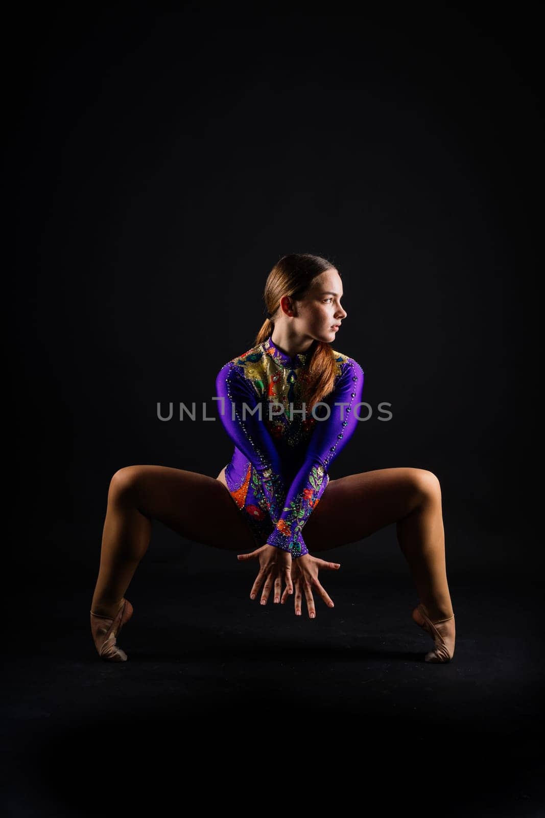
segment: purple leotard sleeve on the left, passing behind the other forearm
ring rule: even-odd
[[[266,401],[260,400],[252,384],[233,362],[226,363],[218,372],[216,396],[220,398],[218,407],[221,423],[235,446],[257,470],[270,519],[276,523],[284,507],[286,483],[279,453],[262,422],[265,419]]]

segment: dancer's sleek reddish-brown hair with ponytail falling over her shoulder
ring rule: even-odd
[[[272,335],[275,328],[275,313],[279,310],[280,299],[284,295],[296,301],[303,299],[310,287],[315,284],[316,278],[332,267],[337,269],[327,258],[309,253],[291,253],[280,258],[267,276],[263,299],[268,317],[257,331],[253,345],[262,344]],[[316,341],[314,352],[310,361],[306,362],[305,369],[306,382],[303,391],[308,413],[333,389],[337,363],[331,346],[324,341]]]

